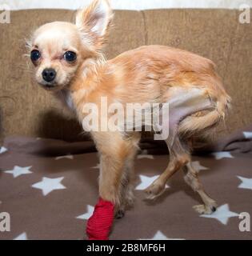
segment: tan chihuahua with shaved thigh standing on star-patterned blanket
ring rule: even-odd
[[[195,134],[204,136],[221,121],[230,97],[222,86],[214,63],[206,58],[168,46],[142,46],[106,61],[102,46],[113,12],[107,0],[94,0],[78,10],[76,22],[51,22],[36,30],[30,41],[30,59],[36,81],[61,98],[83,122],[86,103],[168,103],[170,134],[164,138],[170,161],[164,172],[146,188],[148,198],[165,190],[167,180],[178,170],[202,198],[194,206],[199,214],[211,214],[216,202],[203,190],[190,156]],[[101,117],[99,117],[101,121]],[[127,122],[124,118],[124,122]],[[134,158],[140,132],[90,130],[100,155],[99,195],[114,203],[122,216],[132,206]]]

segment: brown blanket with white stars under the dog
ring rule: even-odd
[[[135,206],[115,220],[110,238],[252,239],[251,231],[239,230],[238,218],[242,212],[252,214],[252,126],[201,150],[218,152],[194,156],[206,191],[219,205],[210,216],[192,209],[201,202],[182,172],[170,179],[161,198],[145,200],[142,190],[166,168],[168,156],[160,154],[162,149],[162,144],[142,143]],[[10,232],[0,232],[0,239],[86,238],[86,219],[98,199],[98,157],[92,142],[6,138],[0,170],[0,213],[10,214]]]

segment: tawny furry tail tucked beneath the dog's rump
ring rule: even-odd
[[[226,111],[230,108],[230,96],[225,91],[218,96],[214,104],[214,110],[211,110],[203,116],[189,116],[180,122],[178,126],[179,134],[194,134],[201,130],[213,127],[225,118]]]

